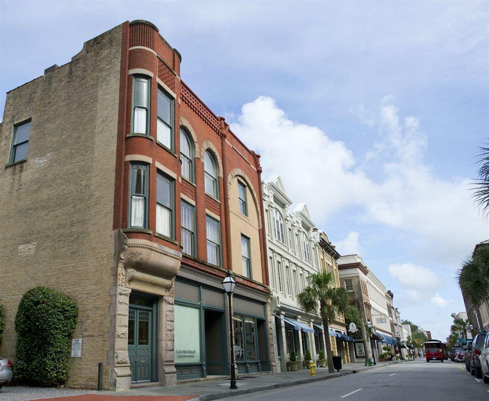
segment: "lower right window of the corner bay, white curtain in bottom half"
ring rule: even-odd
[[[156,232],[174,238],[174,181],[158,172],[156,177]]]

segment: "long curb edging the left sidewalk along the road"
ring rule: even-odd
[[[286,381],[283,383],[266,384],[264,386],[244,388],[241,390],[227,390],[227,391],[221,391],[219,393],[202,394],[201,396],[192,398],[189,401],[211,401],[211,400],[219,400],[221,398],[244,396],[246,394],[258,393],[260,391],[273,390],[273,389],[282,388],[282,387],[292,387],[292,386],[297,386],[299,384],[311,383],[314,381],[328,380],[328,379],[333,379],[336,377],[353,375],[354,373],[360,373],[360,372],[364,372],[367,370],[376,369],[378,367],[380,368],[383,366],[393,365],[393,364],[401,363],[401,362],[403,362],[403,361],[391,361],[388,363],[384,363],[382,366],[366,366],[364,368],[359,368],[359,369],[350,370],[350,371],[346,371],[346,372],[334,373],[333,375],[328,375],[328,376],[308,377],[308,378],[304,378],[304,379],[300,379],[300,380]]]

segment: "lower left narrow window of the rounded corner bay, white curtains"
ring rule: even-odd
[[[148,207],[148,166],[131,164],[130,183],[130,217],[131,227],[146,228]]]

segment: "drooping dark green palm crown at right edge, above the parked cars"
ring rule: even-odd
[[[458,283],[464,297],[475,306],[489,302],[489,244],[476,247],[458,272]]]

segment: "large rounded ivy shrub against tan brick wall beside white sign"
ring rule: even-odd
[[[68,379],[67,356],[78,307],[61,292],[35,287],[22,295],[15,316],[14,376],[18,383],[59,386]]]

